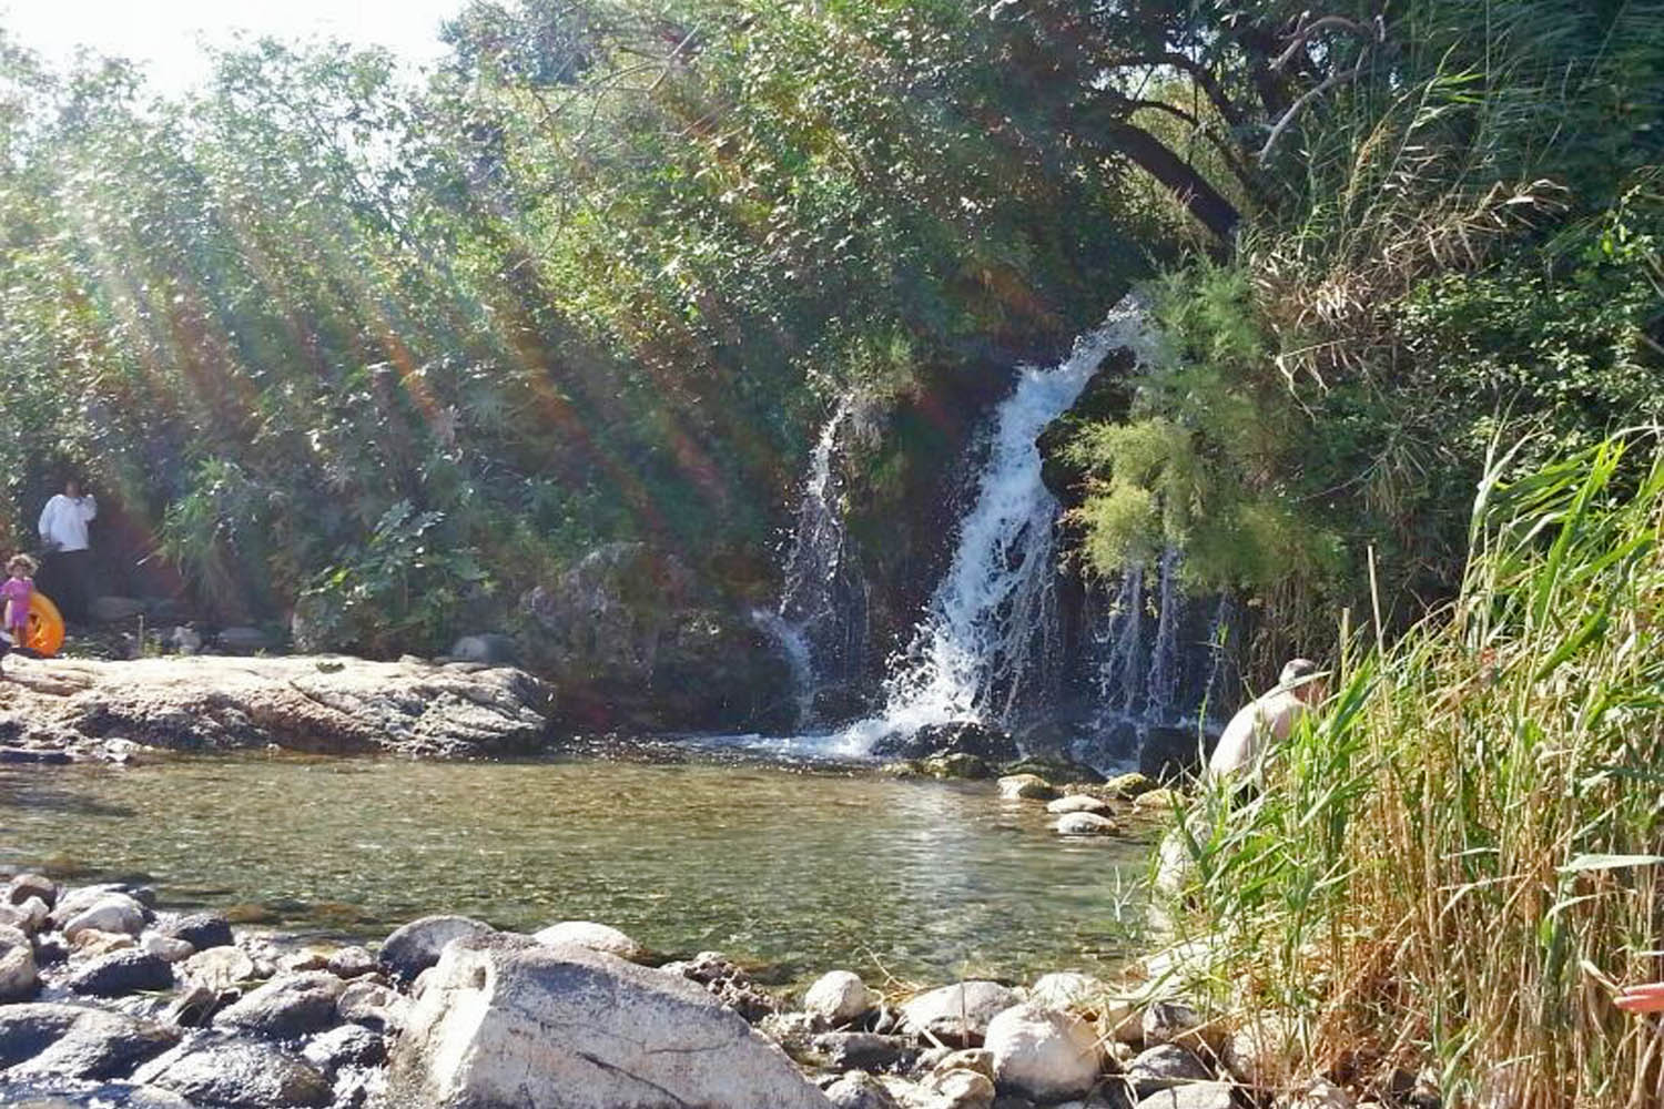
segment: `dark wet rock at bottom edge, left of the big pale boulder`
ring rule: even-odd
[[[321,1109],[334,1101],[314,1067],[275,1046],[246,1041],[170,1051],[141,1066],[133,1081],[223,1109]]]

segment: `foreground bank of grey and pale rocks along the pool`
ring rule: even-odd
[[[378,949],[17,875],[0,896],[0,1102],[62,1109],[722,1106],[1350,1109],[1276,1091],[1293,1046],[1145,974],[770,991],[604,924],[428,916]],[[1404,1099],[1401,1104],[1428,1104]]]

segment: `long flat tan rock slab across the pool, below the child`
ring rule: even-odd
[[[7,660],[0,743],[125,738],[175,750],[276,743],[301,752],[466,758],[544,747],[554,695],[509,667],[295,655]]]

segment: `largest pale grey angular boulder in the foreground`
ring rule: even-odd
[[[393,1049],[388,1101],[562,1109],[827,1104],[785,1052],[692,983],[601,951],[509,936],[446,948]]]

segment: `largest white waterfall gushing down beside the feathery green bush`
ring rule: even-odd
[[[840,753],[860,755],[885,735],[934,723],[1000,723],[1042,678],[1055,633],[1057,499],[1040,481],[1040,432],[1068,411],[1117,347],[1145,361],[1150,334],[1142,308],[1123,299],[1097,331],[1077,339],[1065,362],[1023,367],[1000,402],[975,500],[930,607],[887,683],[880,717],[839,737]]]

